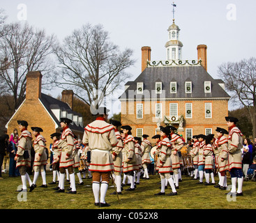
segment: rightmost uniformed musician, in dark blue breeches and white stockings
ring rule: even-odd
[[[229,151],[229,172],[232,181],[231,193],[236,196],[243,195],[243,171],[242,171],[242,152],[243,148],[243,134],[236,127],[236,123],[239,121],[235,117],[225,117],[227,121],[227,127],[229,128],[228,137],[228,151]],[[236,191],[236,182],[238,183]]]

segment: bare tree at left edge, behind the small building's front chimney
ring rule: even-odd
[[[53,70],[50,54],[55,38],[27,23],[5,24],[3,33],[0,38],[0,89],[4,87],[6,93],[13,95],[13,109],[17,109],[25,97],[27,72],[40,70],[47,76]]]

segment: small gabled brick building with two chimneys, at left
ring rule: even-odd
[[[50,134],[60,132],[59,120],[66,117],[73,120],[70,129],[82,139],[84,134],[83,118],[73,111],[73,91],[62,91],[62,100],[57,100],[50,95],[41,93],[41,80],[42,75],[39,71],[27,74],[26,99],[6,124],[7,133],[10,135],[18,127],[17,120],[26,120],[29,123],[28,130],[30,132],[33,126],[43,129],[42,134],[47,141],[47,148],[49,148],[52,143]]]

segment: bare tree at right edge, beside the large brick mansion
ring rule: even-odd
[[[239,101],[247,109],[253,124],[253,137],[256,137],[256,58],[223,63],[218,67],[218,74],[227,91],[232,93],[233,102]]]

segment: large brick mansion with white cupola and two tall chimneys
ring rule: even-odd
[[[160,125],[174,125],[184,139],[227,128],[230,96],[224,82],[207,72],[206,45],[197,46],[197,60],[182,61],[179,26],[167,29],[167,60],[151,61],[151,47],[142,47],[142,73],[127,82],[120,96],[121,123],[133,135],[151,137]]]

